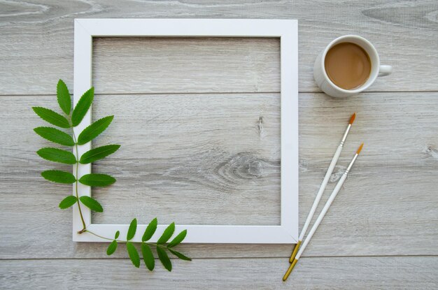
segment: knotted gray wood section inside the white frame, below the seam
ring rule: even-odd
[[[98,96],[93,110],[120,116],[96,145],[125,147],[93,166],[122,181],[95,191],[114,213],[95,222],[280,224],[278,94]]]

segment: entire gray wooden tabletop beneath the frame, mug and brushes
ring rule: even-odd
[[[106,243],[71,241],[57,208],[71,187],[40,176],[52,164],[35,154],[49,143],[31,106],[56,108],[59,78],[73,91],[75,17],[299,20],[300,229],[353,112],[327,191],[365,147],[287,282],[291,245],[182,245],[192,262],[149,273],[124,246],[108,258]],[[393,74],[332,99],[313,61],[344,34],[372,41]],[[437,50],[435,0],[0,1],[0,288],[437,289]],[[122,145],[93,165],[118,178],[93,191],[94,222],[278,224],[278,40],[97,38],[93,53],[94,119],[115,115],[94,145]]]

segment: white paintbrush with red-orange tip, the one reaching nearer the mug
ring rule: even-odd
[[[315,214],[316,208],[318,208],[318,203],[321,200],[321,196],[323,196],[323,192],[325,190],[325,187],[327,186],[328,181],[330,180],[330,176],[332,175],[334,166],[336,166],[337,161],[339,159],[339,155],[341,155],[342,148],[344,147],[345,140],[347,138],[348,132],[350,131],[351,125],[354,122],[354,119],[356,117],[356,113],[353,113],[350,117],[350,121],[348,122],[347,129],[345,130],[344,136],[341,139],[341,143],[339,143],[339,146],[337,147],[336,152],[334,152],[332,162],[330,162],[330,166],[327,169],[327,173],[325,173],[323,182],[321,183],[319,187],[318,194],[316,194],[315,201],[313,201],[312,208],[310,209],[309,215],[307,216],[306,222],[304,223],[303,229],[301,230],[301,233],[299,234],[297,245],[295,245],[295,248],[292,251],[292,254],[290,255],[289,263],[292,263],[292,261],[295,258],[295,255],[298,252],[299,246],[301,245],[301,242],[304,238],[304,235],[306,234],[307,228],[309,227],[309,224],[313,218],[313,215]]]

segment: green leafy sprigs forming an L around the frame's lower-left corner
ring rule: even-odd
[[[36,115],[45,120],[45,122],[55,125],[60,129],[68,129],[68,132],[66,132],[50,126],[40,126],[34,129],[35,133],[52,143],[67,147],[76,147],[76,150],[74,150],[76,154],[73,154],[71,150],[63,150],[55,147],[44,147],[36,152],[41,158],[48,161],[62,164],[76,164],[75,175],[66,171],[59,171],[57,169],[43,171],[41,173],[45,180],[49,180],[51,182],[75,184],[75,192],[73,193],[73,195],[66,196],[66,198],[64,198],[59,203],[59,208],[65,210],[66,208],[71,208],[73,205],[77,205],[80,219],[83,224],[83,229],[81,231],[78,231],[78,233],[87,232],[92,235],[96,235],[97,237],[104,240],[111,240],[108,249],[106,249],[106,254],[113,254],[118,247],[118,242],[126,242],[129,259],[131,259],[136,268],[140,267],[140,255],[137,251],[135,244],[140,245],[141,256],[143,257],[143,261],[146,267],[150,271],[155,268],[155,258],[150,247],[155,247],[158,259],[160,259],[164,268],[169,271],[172,270],[172,263],[169,259],[167,251],[178,257],[178,259],[191,261],[188,256],[185,256],[184,254],[181,254],[174,249],[174,247],[179,245],[184,240],[185,236],[187,235],[187,230],[181,231],[181,233],[176,235],[176,237],[171,240],[171,242],[168,242],[171,236],[174,235],[175,223],[171,223],[169,226],[167,226],[167,229],[164,230],[160,238],[158,238],[157,242],[148,242],[148,240],[153,237],[155,231],[157,230],[157,218],[153,219],[148,224],[146,231],[143,233],[143,236],[141,238],[141,242],[132,241],[137,230],[136,219],[133,219],[131,224],[129,225],[126,240],[118,239],[120,236],[120,231],[117,231],[115,233],[114,238],[106,238],[87,230],[81,206],[86,206],[87,208],[90,208],[90,210],[93,210],[95,212],[103,212],[104,208],[102,208],[101,204],[94,198],[90,196],[80,196],[78,191],[78,184],[81,183],[90,187],[106,187],[113,184],[116,180],[111,175],[96,173],[83,175],[78,179],[77,176],[79,164],[90,164],[91,162],[104,159],[105,157],[108,157],[120,148],[120,145],[115,144],[104,145],[89,150],[82,154],[80,158],[78,157],[78,145],[84,145],[90,142],[91,140],[99,136],[102,132],[104,132],[106,128],[108,128],[108,126],[111,124],[111,122],[113,122],[114,116],[101,118],[96,122],[90,124],[90,126],[87,126],[87,128],[83,129],[83,131],[79,133],[79,136],[76,136],[75,132],[73,131],[73,127],[78,126],[78,124],[82,122],[83,118],[87,114],[87,111],[90,110],[93,100],[94,88],[92,87],[87,90],[87,92],[85,92],[83,96],[80,97],[80,100],[73,108],[71,106],[71,96],[69,89],[62,80],[59,80],[57,84],[57,101],[59,104],[59,108],[61,108],[62,110],[62,113],[56,113],[54,110],[50,110],[48,108],[32,108]]]

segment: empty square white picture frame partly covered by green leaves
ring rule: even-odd
[[[187,229],[184,242],[197,243],[295,243],[298,238],[298,47],[297,20],[236,19],[76,19],[74,22],[74,94],[80,96],[92,87],[92,38],[94,36],[187,36],[187,37],[273,37],[281,43],[281,224],[276,226],[177,225],[176,233]],[[91,110],[74,128],[76,134],[91,124]],[[80,157],[91,149],[91,142],[78,147]],[[76,173],[76,168],[73,168]],[[91,164],[79,164],[78,176],[91,173]],[[91,188],[78,184],[81,196],[91,196]],[[125,236],[128,224],[92,224],[91,212],[83,207],[87,229],[112,237],[120,230]],[[144,221],[149,222],[149,221]],[[90,233],[80,233],[78,206],[73,207],[73,241],[104,242]],[[139,224],[133,241],[141,241],[147,224]],[[160,237],[166,225],[159,225],[151,242]]]

